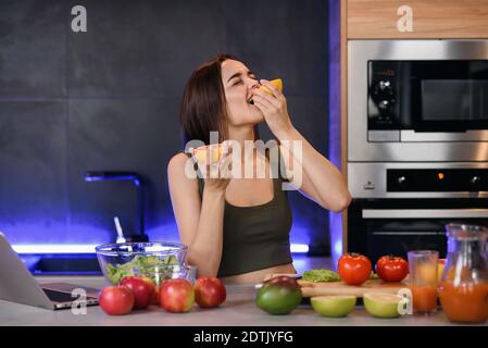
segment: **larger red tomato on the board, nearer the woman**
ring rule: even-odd
[[[368,258],[360,253],[346,253],[339,258],[337,271],[348,285],[361,285],[370,277],[372,264]]]

